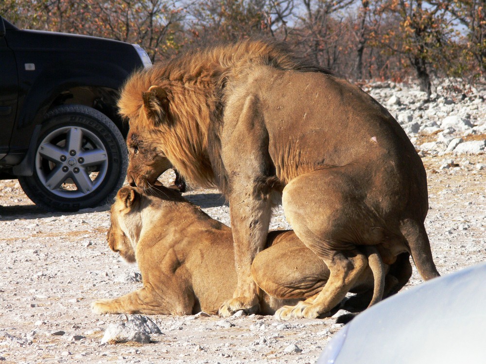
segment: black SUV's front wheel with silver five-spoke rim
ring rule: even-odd
[[[128,166],[117,126],[84,105],[58,106],[45,120],[35,147],[34,174],[18,177],[25,194],[48,211],[111,203]]]

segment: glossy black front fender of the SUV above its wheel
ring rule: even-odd
[[[25,157],[35,126],[63,92],[91,87],[117,92],[127,76],[143,66],[133,45],[84,35],[20,30],[4,21],[6,32],[0,38],[2,58],[15,55],[17,67],[17,113],[15,121],[0,116],[4,131],[0,138],[0,168],[19,164]],[[5,56],[5,57],[4,57]],[[0,61],[2,62],[2,61]],[[10,61],[11,63],[11,61]],[[3,72],[0,81],[0,102],[12,103],[13,92],[5,91],[4,74],[13,84],[13,66]],[[13,87],[9,86],[12,90]],[[61,95],[61,96],[60,96]],[[106,103],[113,104],[114,97]],[[68,100],[62,100],[69,103]],[[1,105],[1,104],[0,104]],[[91,105],[87,105],[91,106]],[[116,105],[111,105],[116,107]],[[1,110],[0,110],[1,111]],[[9,135],[10,134],[10,135]],[[1,154],[8,153],[1,158]]]

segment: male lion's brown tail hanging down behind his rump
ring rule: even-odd
[[[420,273],[423,280],[428,281],[439,277],[440,274],[435,267],[429,237],[423,223],[412,219],[403,220],[400,231],[407,240],[410,247],[410,255],[412,255],[418,273]]]

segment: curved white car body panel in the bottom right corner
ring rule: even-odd
[[[486,264],[474,265],[387,298],[347,324],[317,363],[484,363],[485,279]]]

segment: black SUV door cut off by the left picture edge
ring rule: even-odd
[[[3,19],[0,17],[0,29]],[[0,32],[3,33],[3,32]],[[17,114],[18,79],[14,52],[8,48],[8,29],[0,34],[0,159],[8,152]]]

